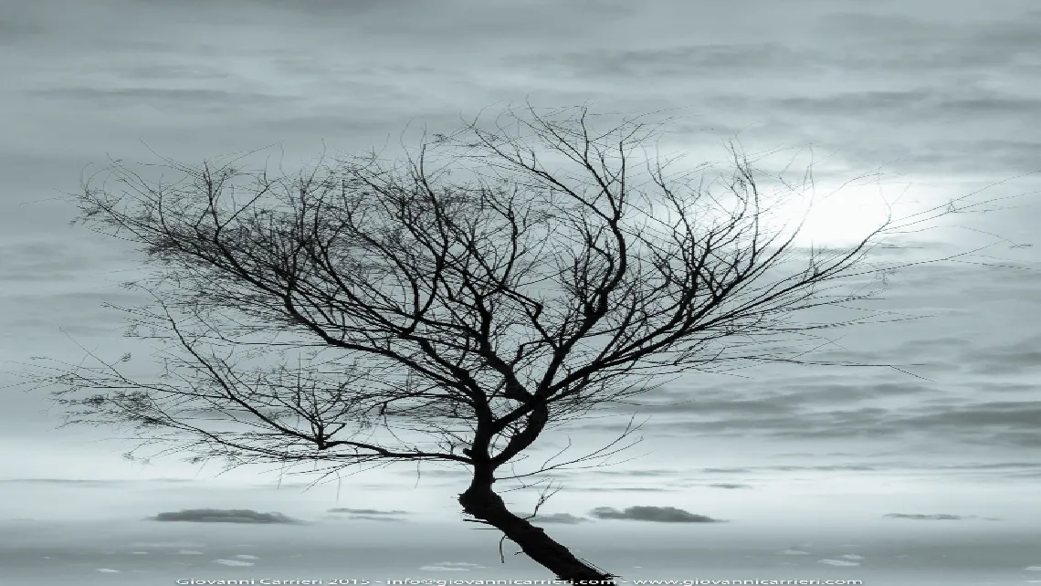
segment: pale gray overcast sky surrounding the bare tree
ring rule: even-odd
[[[626,577],[1041,581],[1038,30],[1030,0],[0,0],[2,383],[33,356],[136,349],[102,303],[143,301],[118,286],[137,257],[70,227],[61,199],[109,156],[278,144],[291,167],[526,99],[668,109],[670,146],[697,157],[738,136],[812,145],[829,176],[887,174],[841,201],[1012,199],[918,236],[937,254],[989,245],[894,276],[884,307],[928,317],[843,332],[821,355],[906,368],[670,383],[643,399],[640,457],[561,474],[544,527]],[[874,218],[828,205],[818,239]],[[461,523],[454,470],[305,490],[264,470],[142,466],[109,430],[56,430],[46,398],[2,392],[2,585],[548,578],[522,556],[500,564],[498,537]],[[595,447],[619,422],[543,448]]]

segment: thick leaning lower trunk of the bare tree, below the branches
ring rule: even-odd
[[[614,583],[615,576],[583,562],[544,531],[511,513],[502,498],[492,490],[494,479],[491,475],[482,476],[485,478],[475,478],[469,488],[459,495],[459,504],[466,513],[502,531],[529,558],[556,574],[557,580],[576,584],[589,584],[589,581],[594,581],[592,584]]]

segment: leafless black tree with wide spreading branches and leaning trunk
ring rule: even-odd
[[[770,219],[809,178],[764,194],[736,148],[726,174],[677,170],[648,149],[660,135],[529,107],[395,160],[278,177],[170,163],[167,183],[117,161],[121,186],[86,181],[81,220],[147,253],[155,271],[133,285],[157,303],[124,309],[172,342],[166,367],[139,380],[102,360],[50,382],[70,422],[197,459],[465,466],[467,520],[558,579],[611,580],[507,508],[496,482],[519,475],[504,466],[662,376],[804,360],[787,342],[835,324],[793,315],[869,297],[865,255],[891,228],[797,246],[798,226]]]

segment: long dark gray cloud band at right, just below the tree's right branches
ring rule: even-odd
[[[956,363],[969,373],[983,370],[992,377],[1018,375],[1041,363],[1034,346],[1027,339],[977,350]],[[1007,366],[998,367],[1001,363]],[[947,366],[946,373],[950,372]],[[645,403],[639,409],[652,414],[653,428],[649,429],[660,436],[899,439],[929,435],[954,443],[1041,445],[1041,402],[1022,397],[1024,391],[1035,390],[1035,385],[1007,380],[963,380],[942,387],[920,380],[863,384],[844,382],[833,373],[838,371],[781,385],[764,384],[765,388],[747,385],[739,398],[730,400],[684,389],[659,391],[643,398]],[[975,398],[980,396],[994,400],[979,402]],[[681,403],[683,398],[693,400]],[[613,431],[616,427],[592,423],[586,429]],[[866,464],[860,466],[845,469],[870,469],[864,467]],[[720,468],[707,472],[716,470]]]

